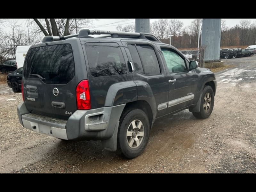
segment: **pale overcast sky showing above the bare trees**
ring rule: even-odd
[[[25,23],[26,19],[12,19],[18,20],[18,23]],[[158,19],[150,19],[150,23],[154,22]],[[191,24],[194,19],[178,19],[184,23],[184,27]],[[228,27],[233,27],[236,24],[239,24],[241,20],[251,20],[256,21],[256,19],[225,19]],[[135,24],[135,19],[98,19],[98,21],[93,22],[93,29],[101,29],[101,30],[116,30],[117,25],[125,26],[127,24]],[[8,28],[5,28],[4,31],[8,31]]]

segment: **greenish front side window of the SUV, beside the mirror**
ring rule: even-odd
[[[186,63],[183,58],[168,49],[162,49],[164,59],[170,73],[186,71]]]

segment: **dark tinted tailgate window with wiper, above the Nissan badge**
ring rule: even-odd
[[[32,48],[24,61],[24,77],[45,78],[46,84],[67,84],[75,76],[75,63],[70,44]]]

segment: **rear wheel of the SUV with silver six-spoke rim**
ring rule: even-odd
[[[128,159],[139,156],[148,144],[149,130],[148,116],[144,111],[136,108],[124,111],[118,128],[117,153]]]

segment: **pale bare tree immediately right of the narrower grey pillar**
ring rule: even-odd
[[[154,21],[151,25],[153,28],[153,34],[157,38],[163,39],[164,37],[167,37],[169,29],[169,22],[167,19],[159,19]]]

